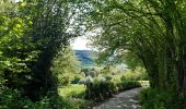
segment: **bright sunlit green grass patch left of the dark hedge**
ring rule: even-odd
[[[85,94],[85,86],[80,84],[70,84],[69,86],[59,87],[58,93],[62,97],[82,98]]]

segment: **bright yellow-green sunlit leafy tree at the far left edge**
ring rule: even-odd
[[[38,53],[31,37],[25,34],[30,33],[27,28],[32,21],[12,14],[15,11],[13,3],[7,1],[1,4],[4,5],[0,12],[1,77],[7,80],[5,86],[22,89],[31,78],[28,63],[35,61]]]

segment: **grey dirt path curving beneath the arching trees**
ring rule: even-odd
[[[133,88],[114,95],[113,98],[93,109],[140,109],[139,93],[142,88]]]

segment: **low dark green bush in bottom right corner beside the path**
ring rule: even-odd
[[[186,98],[178,98],[171,92],[147,88],[140,94],[142,109],[185,109]]]

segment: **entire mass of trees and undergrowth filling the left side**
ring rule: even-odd
[[[62,0],[0,0],[0,108],[71,107],[58,96],[50,68],[75,36],[68,31],[72,12]]]

